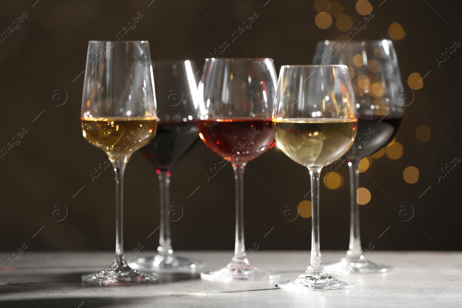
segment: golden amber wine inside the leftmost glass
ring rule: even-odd
[[[156,118],[82,118],[82,133],[92,145],[115,158],[132,154],[156,134]],[[121,157],[122,158],[122,157]],[[116,159],[116,158],[115,158]]]

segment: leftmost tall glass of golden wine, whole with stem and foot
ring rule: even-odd
[[[123,174],[134,151],[156,133],[156,100],[147,41],[88,43],[82,133],[103,150],[116,173],[116,257],[101,271],[82,275],[87,282],[152,281],[155,274],[130,268],[123,252]]]

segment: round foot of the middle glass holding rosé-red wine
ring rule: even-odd
[[[251,268],[245,270],[231,270],[227,267],[221,270],[210,270],[201,272],[201,278],[205,280],[223,281],[242,281],[242,280],[270,280],[278,278],[277,272],[261,270],[259,268]]]

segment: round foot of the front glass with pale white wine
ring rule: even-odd
[[[276,284],[281,289],[291,290],[346,290],[354,287],[351,282],[341,281],[330,275],[305,274]]]

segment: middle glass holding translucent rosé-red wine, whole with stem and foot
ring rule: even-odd
[[[199,136],[225,163],[236,182],[236,244],[231,262],[201,273],[204,279],[273,279],[253,267],[244,245],[243,175],[246,164],[274,145],[271,123],[276,72],[272,59],[206,59],[199,83]]]

